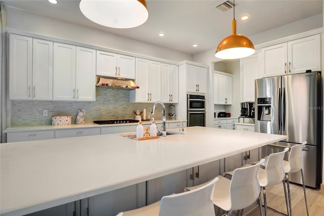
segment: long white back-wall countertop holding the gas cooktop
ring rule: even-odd
[[[162,120],[156,120],[156,124],[162,123]],[[167,120],[166,123],[181,122],[180,120]],[[183,121],[187,122],[187,121]],[[150,125],[151,121],[143,121],[143,125]],[[28,132],[28,131],[40,131],[40,130],[63,130],[72,128],[90,128],[90,127],[113,127],[113,126],[126,126],[126,125],[138,125],[138,123],[123,123],[123,124],[105,124],[99,125],[95,123],[86,124],[71,124],[62,126],[52,126],[52,125],[37,125],[37,126],[11,126],[4,130],[5,133],[13,132]]]

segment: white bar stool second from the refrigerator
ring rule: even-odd
[[[258,178],[259,178],[260,186],[262,187],[262,191],[263,191],[265,215],[268,215],[265,187],[274,186],[281,182],[284,184],[287,212],[289,215],[288,197],[287,197],[287,192],[286,192],[286,184],[284,181],[285,169],[284,169],[284,164],[282,162],[284,160],[285,153],[288,152],[288,150],[289,150],[289,148],[285,148],[285,150],[282,152],[272,153],[269,156],[267,156],[266,163],[262,164],[262,166],[265,166],[265,169],[260,168],[260,170],[259,170]],[[271,209],[278,211],[273,208],[271,208]],[[278,211],[278,212],[282,213],[280,211]]]

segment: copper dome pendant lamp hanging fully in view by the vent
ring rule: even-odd
[[[224,38],[218,45],[215,56],[220,59],[244,58],[255,53],[250,39],[236,34],[235,2],[233,1],[234,18],[232,20],[232,35]]]

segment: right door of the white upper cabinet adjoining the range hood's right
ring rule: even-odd
[[[161,100],[161,62],[150,61],[149,94],[150,102]]]

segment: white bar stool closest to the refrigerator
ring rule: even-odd
[[[303,156],[302,151],[304,146],[306,145],[306,141],[304,141],[301,145],[295,145],[291,148],[288,161],[283,161],[284,169],[286,172],[286,181],[287,181],[287,189],[288,189],[288,200],[289,200],[289,210],[290,215],[292,214],[292,204],[291,204],[291,195],[290,195],[290,188],[289,188],[289,173],[298,172],[300,170],[302,175],[302,182],[304,187],[304,198],[306,204],[306,211],[307,216],[309,216],[308,207],[307,207],[307,199],[306,199],[306,189],[305,189],[305,182],[304,182],[304,173],[303,173]]]

